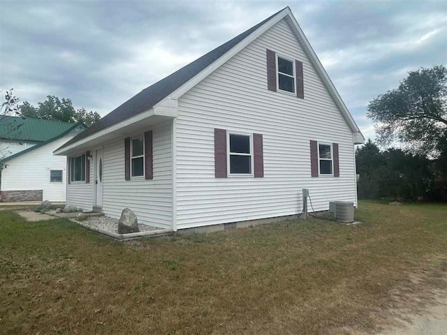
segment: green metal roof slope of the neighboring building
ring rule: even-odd
[[[0,139],[44,142],[68,131],[73,123],[0,116]]]

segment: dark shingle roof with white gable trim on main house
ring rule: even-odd
[[[342,114],[346,119],[346,122],[351,127],[351,130],[354,133],[358,133],[360,135],[360,138],[362,138],[364,141],[365,139],[363,135],[360,133],[360,129],[358,128],[356,122],[353,120],[353,117],[347,110],[346,105],[344,105],[342,98],[339,96],[337,89],[335,89],[334,84],[332,84],[332,82],[330,81],[329,76],[325,72],[318,57],[316,57],[316,54],[312,49],[312,47],[310,46],[309,41],[302,32],[300,26],[298,25],[298,22],[296,22],[295,17],[293,17],[291,9],[286,7],[282,10],[279,10],[277,13],[274,13],[273,15],[263,20],[262,22],[259,22],[258,24],[256,24],[254,27],[251,27],[247,31],[244,31],[242,34],[236,36],[235,38],[229,40],[226,43],[223,43],[223,45],[208,52],[202,57],[196,59],[192,63],[184,66],[183,68],[180,68],[175,73],[172,73],[171,75],[168,75],[168,77],[165,77],[159,82],[156,82],[155,84],[152,84],[146,89],[143,89],[142,91],[140,91],[140,93],[136,94],[128,101],[126,101],[122,105],[119,105],[119,107],[115,108],[115,110],[112,110],[112,112],[105,115],[105,117],[96,122],[96,124],[90,126],[85,131],[76,135],[70,141],[66,142],[66,144],[61,146],[59,149],[68,147],[69,145],[78,142],[84,139],[85,137],[88,137],[89,135],[93,135],[98,131],[101,131],[105,128],[108,128],[109,126],[117,124],[120,121],[129,119],[130,117],[133,117],[135,114],[139,114],[141,112],[145,112],[146,110],[151,109],[155,105],[161,103],[161,101],[163,101],[164,99],[168,98],[170,94],[173,94],[175,91],[181,90],[182,87],[188,85],[188,83],[193,82],[194,78],[199,77],[200,74],[207,75],[209,74],[208,70],[215,70],[216,68],[218,68],[219,65],[221,65],[217,64],[219,59],[226,58],[224,57],[224,55],[226,56],[230,54],[230,57],[233,56],[233,52],[237,53],[239,51],[236,49],[239,45],[243,44],[242,43],[243,41],[247,41],[250,38],[251,40],[254,40],[254,38],[263,34],[267,29],[269,29],[272,26],[272,24],[277,23],[284,17],[288,17],[289,22],[293,26],[295,34],[297,34],[298,40],[300,40],[300,43],[302,43],[303,49],[307,53],[312,64],[316,67],[317,73],[321,75],[323,83],[328,88],[328,91],[330,91],[330,94],[332,98],[334,98],[335,103],[342,111]],[[214,66],[215,64],[217,64],[217,66]],[[59,149],[57,149],[57,151],[59,151]]]

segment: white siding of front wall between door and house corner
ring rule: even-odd
[[[154,179],[147,180],[124,180],[124,137],[104,144],[103,212],[119,218],[129,207],[140,223],[173,228],[171,121],[153,126],[152,140]]]

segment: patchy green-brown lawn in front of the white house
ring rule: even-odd
[[[121,243],[0,211],[0,334],[373,332],[444,283],[447,204],[356,218]]]

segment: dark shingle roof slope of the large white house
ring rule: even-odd
[[[115,108],[115,110],[112,110],[112,112],[105,115],[105,117],[96,122],[96,124],[90,126],[85,131],[82,131],[82,133],[76,135],[70,141],[66,142],[66,144],[61,146],[61,148],[77,142],[78,140],[82,140],[82,138],[101,131],[108,126],[112,126],[112,124],[116,124],[119,121],[123,121],[125,119],[128,119],[129,117],[133,117],[135,114],[144,112],[145,110],[154,107],[156,103],[159,103],[161,100],[163,100],[163,98],[166,98],[166,96],[173,93],[173,91],[181,87],[195,75],[210,66],[214,61],[223,56],[223,54],[226,54],[226,52],[231,50],[233,47],[235,47],[235,45],[240,43],[242,40],[244,40],[244,38],[256,31],[256,29],[268,22],[272,17],[277,15],[282,10],[284,9],[279,10],[277,13],[274,13],[272,16],[263,20],[263,22],[256,24],[256,26],[251,27],[247,31],[244,31],[242,34],[236,36],[232,40],[223,43],[223,45],[208,52],[207,54],[196,59],[183,68],[180,68],[179,70],[175,71],[175,73],[168,75],[168,77],[165,77],[152,86],[143,89],[142,91],[140,91],[140,93],[136,94],[128,101]]]

